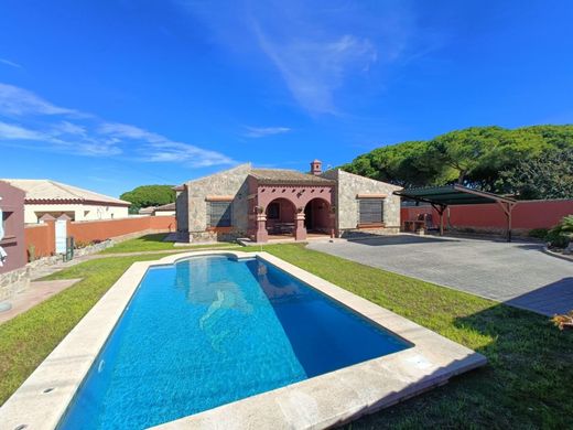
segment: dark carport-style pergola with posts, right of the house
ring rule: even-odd
[[[511,241],[511,211],[518,203],[510,197],[454,184],[394,191],[394,194],[417,202],[430,203],[440,214],[440,236],[444,234],[444,211],[447,206],[497,203],[506,214],[507,241]]]

